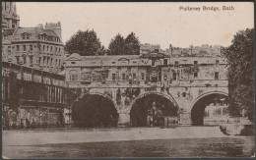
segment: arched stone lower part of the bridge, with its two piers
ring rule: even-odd
[[[127,90],[132,92],[132,96],[127,95]],[[88,87],[83,88],[83,93],[76,99],[79,101],[89,95],[99,95],[106,98],[119,114],[119,125],[130,123],[130,112],[134,104],[141,98],[149,95],[160,95],[178,108],[179,124],[192,125],[192,109],[197,107],[200,101],[214,100],[218,95],[227,97],[227,86],[176,86],[176,87]],[[202,104],[204,105],[204,104]],[[204,110],[205,108],[203,108]]]

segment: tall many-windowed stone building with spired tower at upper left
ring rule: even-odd
[[[14,64],[59,73],[64,61],[61,24],[19,27],[14,2],[2,2],[2,59]]]

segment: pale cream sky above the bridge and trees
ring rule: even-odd
[[[16,5],[21,27],[60,22],[64,43],[79,29],[94,29],[105,47],[117,33],[126,37],[132,31],[141,43],[160,44],[162,49],[169,44],[228,46],[238,30],[254,27],[252,2],[17,2]],[[219,7],[220,11],[203,11],[203,6]],[[223,10],[223,6],[232,6],[233,10]],[[197,7],[200,11],[184,11],[181,7]]]

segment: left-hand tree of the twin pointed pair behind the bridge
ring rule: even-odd
[[[117,34],[113,39],[111,39],[108,46],[108,55],[122,55],[125,51],[125,42],[121,34]]]

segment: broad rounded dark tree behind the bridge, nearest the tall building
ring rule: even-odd
[[[78,53],[81,56],[94,56],[100,54],[101,44],[95,30],[78,30],[66,42],[65,50],[70,54]]]

